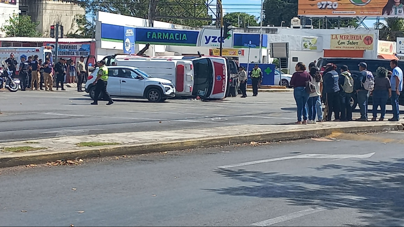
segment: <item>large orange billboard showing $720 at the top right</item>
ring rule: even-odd
[[[404,17],[404,5],[393,0],[299,0],[298,15],[327,17]]]

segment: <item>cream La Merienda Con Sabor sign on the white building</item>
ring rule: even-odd
[[[373,34],[331,35],[331,50],[373,50]]]

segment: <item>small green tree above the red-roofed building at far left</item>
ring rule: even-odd
[[[33,22],[30,16],[13,14],[1,30],[9,37],[41,37],[42,34],[36,31],[39,23]]]

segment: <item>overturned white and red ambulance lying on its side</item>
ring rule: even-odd
[[[115,58],[115,64],[137,67],[153,77],[172,81],[177,90],[176,96],[223,99],[229,90],[229,64],[221,57],[120,57]]]

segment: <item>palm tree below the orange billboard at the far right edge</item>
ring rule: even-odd
[[[379,39],[396,41],[397,37],[404,37],[404,19],[386,18],[384,22],[375,23],[375,29],[379,28]]]

